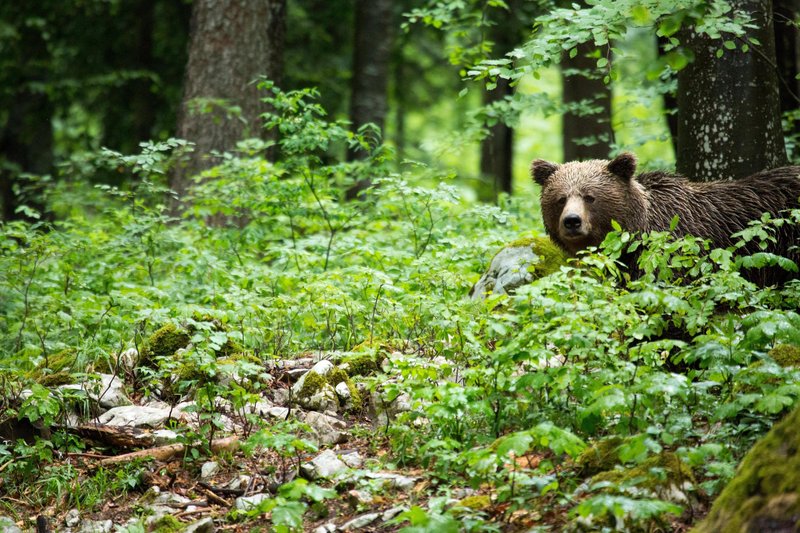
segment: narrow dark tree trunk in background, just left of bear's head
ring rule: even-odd
[[[509,80],[497,79],[497,87],[484,91],[483,104],[490,105],[514,93]],[[481,140],[481,175],[492,183],[492,197],[497,201],[501,192],[511,194],[513,189],[514,130],[505,122],[489,128],[489,135]]]

